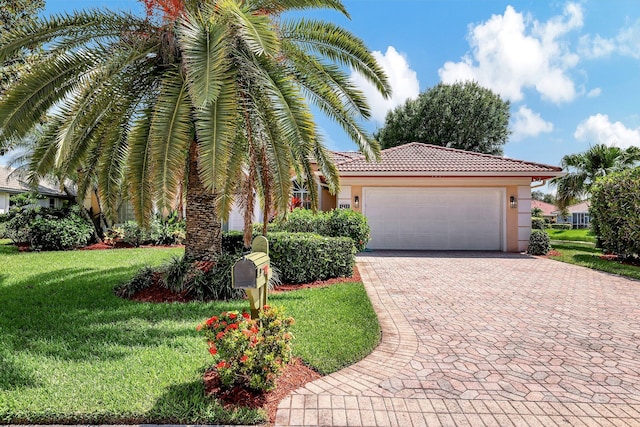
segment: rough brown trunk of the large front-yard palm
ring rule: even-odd
[[[222,251],[222,230],[216,214],[216,194],[205,188],[198,174],[198,145],[189,146],[187,177],[185,256],[213,261]]]

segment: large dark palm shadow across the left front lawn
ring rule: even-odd
[[[107,361],[131,347],[180,346],[195,334],[195,325],[210,316],[208,304],[145,304],[113,294],[141,267],[67,268],[15,283],[0,276],[0,390],[36,385],[36,373],[17,363],[21,354]],[[164,323],[172,321],[178,323]]]

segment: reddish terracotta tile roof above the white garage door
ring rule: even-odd
[[[549,178],[561,174],[562,168],[540,163],[473,153],[453,148],[413,142],[382,150],[379,163],[354,157],[337,165],[340,173],[408,175],[518,175]]]

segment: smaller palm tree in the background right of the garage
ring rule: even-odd
[[[584,153],[564,156],[561,166],[567,174],[551,181],[558,189],[558,207],[562,210],[572,200],[587,196],[599,177],[631,168],[639,161],[640,148],[632,146],[623,150],[605,144],[594,145]]]

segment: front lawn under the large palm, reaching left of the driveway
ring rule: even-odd
[[[114,286],[179,249],[18,253],[0,246],[0,424],[251,424],[263,411],[204,396],[195,326],[244,301],[145,304]],[[6,249],[6,250],[5,250]],[[362,284],[270,298],[296,318],[294,354],[321,372],[379,340]],[[364,332],[364,333],[363,333]]]

